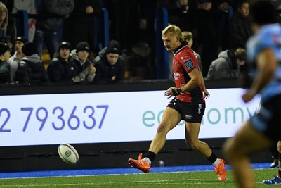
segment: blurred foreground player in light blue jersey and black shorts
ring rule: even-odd
[[[255,76],[242,99],[249,102],[261,94],[261,109],[224,147],[238,187],[255,187],[249,156],[268,149],[281,134],[281,26],[270,1],[254,1],[250,13],[254,35],[247,42],[247,58]]]

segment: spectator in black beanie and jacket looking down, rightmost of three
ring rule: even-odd
[[[121,48],[116,40],[110,41],[93,60],[96,66],[95,83],[113,83],[124,80],[125,59],[120,56]]]

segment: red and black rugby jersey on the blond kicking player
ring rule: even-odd
[[[186,43],[183,43],[178,47],[178,49],[176,49],[176,51],[174,51],[173,67],[176,88],[183,87],[186,83],[188,83],[190,80],[188,75],[190,70],[193,68],[199,69],[198,58],[195,52],[190,49]],[[176,97],[181,101],[190,103],[203,103],[205,101],[201,84],[189,92],[185,92],[184,94],[180,94]]]

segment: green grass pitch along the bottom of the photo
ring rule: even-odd
[[[275,169],[254,170],[256,187],[266,187],[262,180],[277,174]],[[214,171],[183,173],[138,173],[127,175],[87,175],[68,177],[34,177],[0,179],[0,187],[237,187],[228,170],[226,181],[220,182]]]

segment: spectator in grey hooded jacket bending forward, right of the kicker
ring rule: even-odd
[[[218,58],[211,62],[208,80],[223,78],[238,78],[242,66],[245,65],[247,53],[245,49],[230,49],[221,51]]]

